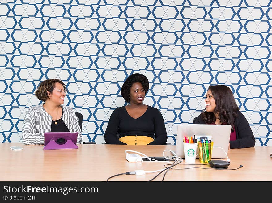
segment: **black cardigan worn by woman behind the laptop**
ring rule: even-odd
[[[200,116],[194,118],[193,123],[206,124]],[[249,123],[240,111],[237,112],[237,117],[234,118],[234,128],[236,132],[236,140],[230,141],[230,149],[247,148],[255,145],[255,137]]]

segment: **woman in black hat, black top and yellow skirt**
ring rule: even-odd
[[[111,114],[105,131],[107,144],[161,145],[167,141],[162,114],[143,104],[148,89],[148,79],[142,74],[132,74],[125,80],[121,95],[129,105]]]

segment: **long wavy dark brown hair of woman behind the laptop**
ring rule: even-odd
[[[206,108],[199,115],[206,124],[215,123],[215,114],[218,113],[219,121],[223,124],[232,126],[234,131],[234,119],[237,117],[239,107],[235,102],[232,91],[226,85],[210,85],[208,90],[211,91],[215,99],[214,112],[206,112]]]

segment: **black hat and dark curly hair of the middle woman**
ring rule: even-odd
[[[142,87],[145,90],[145,94],[149,90],[149,81],[146,76],[140,73],[134,73],[126,78],[122,88],[121,88],[121,95],[125,99],[126,102],[130,102],[130,88],[135,82],[140,82]]]

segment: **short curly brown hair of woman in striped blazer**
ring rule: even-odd
[[[49,97],[47,91],[51,92],[55,88],[55,83],[58,82],[62,84],[64,91],[67,92],[65,84],[59,79],[48,79],[40,83],[38,86],[35,95],[40,101],[46,101]]]

